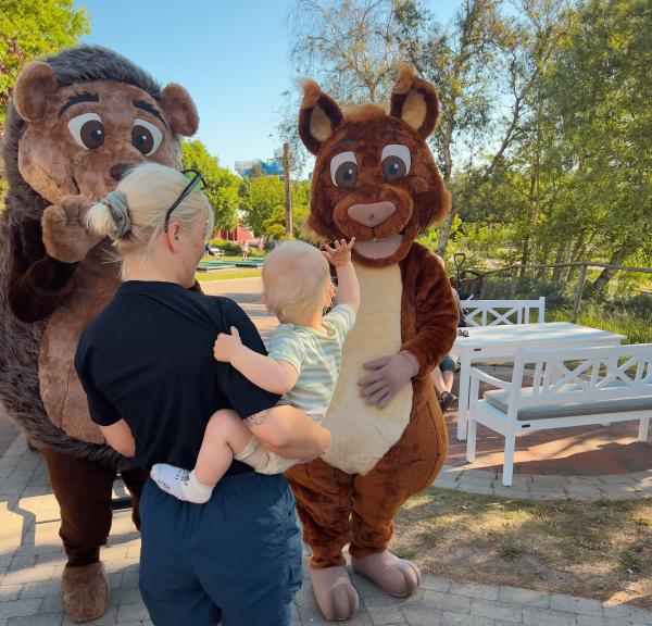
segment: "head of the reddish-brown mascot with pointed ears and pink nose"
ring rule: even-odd
[[[328,239],[355,237],[353,258],[380,267],[450,210],[450,195],[426,138],[439,105],[435,87],[399,65],[389,114],[377,104],[341,111],[303,83],[299,135],[316,156],[309,227]]]

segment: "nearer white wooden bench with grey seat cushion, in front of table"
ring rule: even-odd
[[[532,385],[524,386],[526,365]],[[497,389],[479,395],[480,381]],[[503,485],[512,484],[516,436],[534,430],[639,421],[648,440],[652,417],[652,343],[594,348],[521,348],[512,381],[471,370],[466,460],[475,461],[476,425],[505,438]]]

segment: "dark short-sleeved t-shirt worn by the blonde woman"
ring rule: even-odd
[[[110,426],[124,418],[141,467],[193,467],[215,411],[234,409],[244,420],[279,400],[215,361],[217,334],[231,326],[244,346],[266,354],[255,326],[233,300],[174,283],[123,283],[77,347],[75,367],[92,421]],[[227,475],[249,471],[234,461]]]

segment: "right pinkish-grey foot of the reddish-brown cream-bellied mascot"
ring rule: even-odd
[[[358,574],[368,578],[390,596],[411,596],[421,584],[418,567],[387,550],[368,556],[352,556],[351,563]]]

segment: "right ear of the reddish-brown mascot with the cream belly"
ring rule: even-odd
[[[390,114],[412,126],[424,139],[437,127],[439,101],[435,87],[414,75],[405,63],[398,64],[399,76],[391,92]]]

